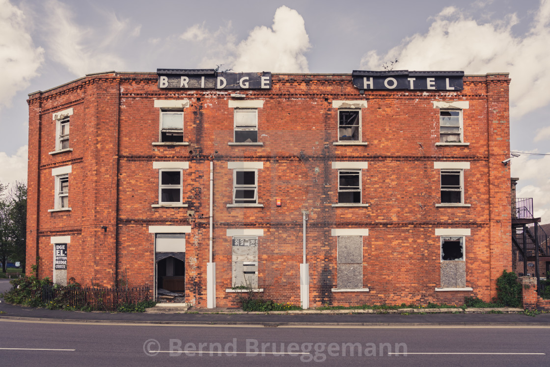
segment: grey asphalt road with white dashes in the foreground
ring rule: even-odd
[[[550,365],[547,326],[243,327],[0,320],[0,328],[3,365]]]

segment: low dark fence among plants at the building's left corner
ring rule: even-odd
[[[123,304],[138,304],[152,300],[149,287],[133,288],[96,288],[96,287],[65,287],[47,284],[34,289],[32,297],[38,297],[43,303],[56,303],[64,307],[76,309],[115,311]]]

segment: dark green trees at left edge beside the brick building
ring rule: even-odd
[[[6,272],[7,262],[19,261],[25,268],[27,231],[27,187],[15,182],[10,189],[0,184],[0,262]]]

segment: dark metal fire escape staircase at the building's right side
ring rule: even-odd
[[[541,218],[533,217],[533,199],[516,198],[512,203],[512,244],[518,250],[519,260],[523,260],[523,273],[527,275],[527,261],[535,262],[537,292],[541,291],[540,261],[550,261],[550,241],[548,234],[538,224]]]

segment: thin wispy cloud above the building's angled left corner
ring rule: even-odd
[[[124,42],[125,36],[135,36],[136,31],[139,34],[139,29],[129,28],[128,20],[107,14],[107,26],[92,30],[79,26],[73,12],[58,0],[48,1],[45,9],[47,51],[54,61],[76,76],[124,69],[123,59],[116,54],[117,45]]]

